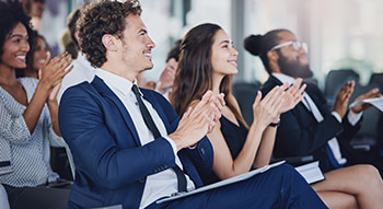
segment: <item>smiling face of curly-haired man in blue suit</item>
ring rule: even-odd
[[[149,37],[147,27],[139,15],[125,18],[125,30],[121,38],[121,60],[126,69],[139,73],[153,68],[151,49],[155,47]]]

